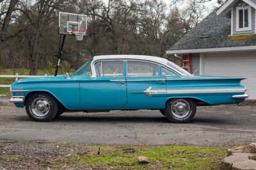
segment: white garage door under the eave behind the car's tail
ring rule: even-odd
[[[213,76],[242,76],[249,99],[256,99],[256,52],[205,53],[202,74]]]

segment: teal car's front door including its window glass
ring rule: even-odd
[[[123,60],[100,60],[95,63],[96,78],[81,81],[83,110],[115,110],[127,103]]]

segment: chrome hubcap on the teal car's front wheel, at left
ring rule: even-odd
[[[50,103],[44,97],[37,97],[31,103],[31,111],[36,117],[45,117],[50,111]]]

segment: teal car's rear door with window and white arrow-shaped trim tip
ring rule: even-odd
[[[161,67],[146,60],[127,60],[127,108],[165,107],[166,82]]]

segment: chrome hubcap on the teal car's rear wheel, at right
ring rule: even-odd
[[[172,103],[172,113],[177,118],[186,118],[190,113],[190,104],[184,99],[177,99]]]

